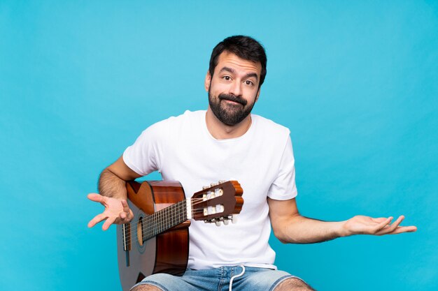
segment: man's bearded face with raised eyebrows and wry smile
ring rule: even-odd
[[[209,105],[216,117],[227,126],[239,124],[250,114],[260,90],[262,65],[230,52],[222,52],[213,77],[206,75]]]

